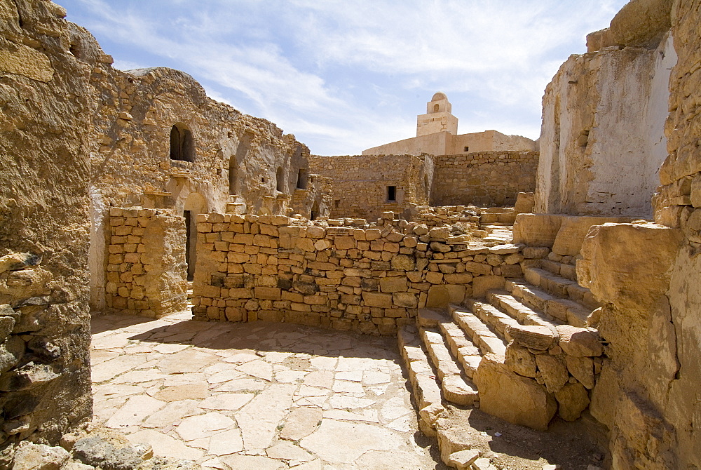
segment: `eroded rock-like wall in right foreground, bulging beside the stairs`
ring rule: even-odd
[[[609,359],[591,410],[611,431],[614,469],[701,467],[701,2],[677,0],[667,11],[677,61],[665,108],[669,155],[653,198],[658,223],[594,227],[578,266],[606,302],[599,332]],[[665,24],[641,18],[646,27],[628,36],[649,40],[651,25]]]

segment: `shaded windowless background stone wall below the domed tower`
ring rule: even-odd
[[[435,157],[434,206],[513,206],[533,192],[538,152],[479,152]]]

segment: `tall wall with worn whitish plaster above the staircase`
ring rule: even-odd
[[[651,218],[676,62],[672,36],[655,46],[604,47],[560,67],[543,96],[536,212]]]

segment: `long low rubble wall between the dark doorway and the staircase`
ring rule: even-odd
[[[417,225],[291,225],[283,216],[198,216],[193,314],[390,335],[417,309],[460,303],[521,276],[520,246],[470,247],[470,236]],[[415,233],[418,232],[418,233]]]

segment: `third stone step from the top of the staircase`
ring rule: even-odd
[[[585,327],[592,309],[571,299],[551,295],[523,281],[506,281],[506,290],[519,302],[562,323]]]

